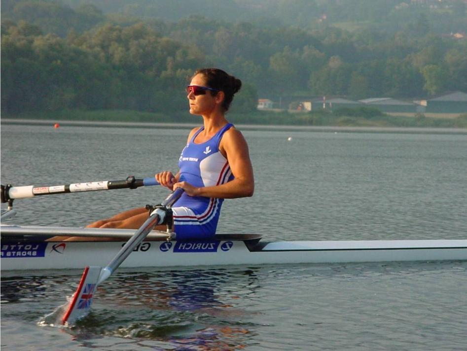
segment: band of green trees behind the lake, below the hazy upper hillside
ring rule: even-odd
[[[202,66],[242,79],[232,106],[238,112],[254,110],[258,96],[414,98],[467,91],[467,40],[434,34],[423,12],[398,32],[346,31],[325,23],[305,29],[201,16],[142,20],[87,4],[4,1],[1,48],[1,109],[11,113],[181,110],[183,87]]]

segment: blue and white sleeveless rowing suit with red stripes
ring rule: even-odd
[[[194,140],[204,127],[193,135],[180,155],[180,182],[185,181],[194,187],[210,187],[225,184],[234,178],[229,162],[219,151],[222,135],[232,126],[228,123],[201,144],[196,144]],[[223,201],[221,198],[183,193],[172,207],[177,239],[214,236]]]

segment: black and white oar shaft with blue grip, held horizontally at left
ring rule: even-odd
[[[13,199],[28,198],[38,195],[63,194],[68,192],[98,191],[112,189],[136,189],[148,185],[158,185],[154,177],[137,179],[133,176],[125,180],[104,180],[100,182],[74,183],[67,185],[54,185],[45,187],[35,187],[27,185],[22,187],[13,187],[11,185],[1,185],[1,202],[10,202]]]

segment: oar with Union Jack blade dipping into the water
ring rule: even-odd
[[[62,318],[62,323],[73,323],[77,319],[86,316],[92,303],[92,297],[98,285],[104,282],[118,268],[118,266],[131,254],[133,249],[140,244],[146,235],[157,224],[168,224],[168,229],[172,228],[172,216],[170,208],[177,201],[183,189],[178,188],[172,192],[162,203],[157,206],[149,218],[136,231],[136,233],[122,247],[120,252],[104,268],[86,267],[79,282],[78,288],[72,297],[72,301],[67,312]]]

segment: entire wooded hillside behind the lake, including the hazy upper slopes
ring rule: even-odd
[[[232,114],[467,92],[466,30],[461,0],[2,0],[1,110],[175,113],[201,66],[243,80]]]

